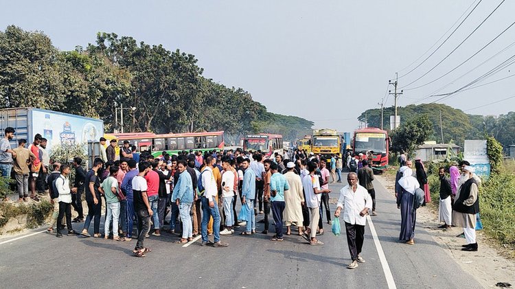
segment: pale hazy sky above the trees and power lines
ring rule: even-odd
[[[402,76],[399,87],[406,86],[398,104],[406,106],[428,95],[455,91],[514,56],[515,47],[509,45],[515,40],[515,25],[455,69],[515,21],[515,1],[505,1],[453,54],[407,86],[444,59],[502,1],[481,1],[431,58],[403,76],[435,51],[453,31],[449,29],[459,24],[460,16],[463,19],[464,12],[478,2],[4,1],[0,29],[14,24],[43,31],[62,50],[93,43],[97,32],[133,36],[170,50],[179,48],[198,58],[204,76],[229,87],[242,87],[269,111],[305,117],[315,121],[317,128],[352,131],[358,126],[358,115],[379,107],[388,80],[395,78],[397,71]],[[515,70],[501,68],[470,87],[505,80],[439,102],[472,114],[499,115],[514,110],[515,77],[507,77]],[[451,69],[455,71],[413,89]],[[512,98],[476,108],[507,97]],[[439,98],[428,97],[420,103]],[[393,106],[393,97],[384,102]]]

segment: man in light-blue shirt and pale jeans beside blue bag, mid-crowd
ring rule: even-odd
[[[242,168],[245,170],[243,174],[242,185],[242,204],[247,206],[247,231],[243,231],[240,235],[251,235],[255,233],[255,214],[254,214],[254,198],[255,198],[255,172],[247,170],[249,168],[249,159],[244,159]]]

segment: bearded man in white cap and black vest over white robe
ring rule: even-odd
[[[467,241],[462,251],[477,251],[476,214],[479,213],[479,188],[474,178],[474,167],[467,165],[462,169],[466,181],[456,193],[453,205],[453,225],[462,227]]]

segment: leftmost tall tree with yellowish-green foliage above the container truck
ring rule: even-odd
[[[67,92],[62,62],[48,36],[8,26],[0,32],[0,107],[59,111]]]

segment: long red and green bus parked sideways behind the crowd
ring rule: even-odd
[[[223,150],[224,132],[185,132],[174,134],[156,135],[152,132],[133,132],[106,134],[108,140],[117,139],[118,146],[129,141],[131,146],[136,146],[138,152],[150,151],[154,157],[161,157],[163,152],[170,155],[179,154],[183,150],[201,151]]]

